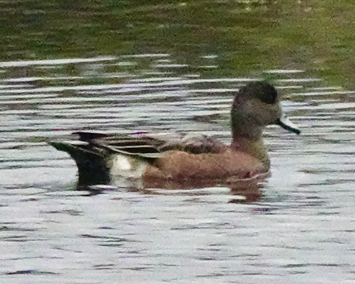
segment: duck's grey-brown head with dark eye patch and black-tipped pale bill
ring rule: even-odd
[[[251,82],[235,95],[231,110],[234,137],[257,140],[267,125],[277,124],[299,134],[301,131],[283,114],[276,89],[266,82]]]

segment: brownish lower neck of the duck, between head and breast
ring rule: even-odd
[[[266,169],[270,168],[269,156],[261,137],[257,139],[250,139],[239,135],[237,136],[233,133],[230,147],[236,151],[242,151],[250,154],[263,163]]]

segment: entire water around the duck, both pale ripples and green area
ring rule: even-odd
[[[114,2],[1,2],[0,283],[354,283],[355,100],[338,83],[353,13]],[[229,143],[233,93],[255,78],[274,79],[302,131],[267,127],[262,184],[77,191],[47,144],[83,130]]]

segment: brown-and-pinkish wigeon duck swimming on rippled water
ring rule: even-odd
[[[78,166],[79,179],[107,183],[112,176],[138,177],[143,186],[183,187],[212,185],[230,177],[250,178],[270,168],[262,130],[277,124],[291,132],[300,130],[284,116],[280,97],[266,82],[252,82],[235,94],[231,109],[232,142],[213,137],[149,136],[137,132],[112,135],[75,132],[78,141],[50,142],[68,152]],[[187,186],[186,186],[187,184]]]

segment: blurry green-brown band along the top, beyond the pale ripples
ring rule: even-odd
[[[295,68],[331,84],[355,85],[351,0],[0,3],[3,61],[169,53],[193,64],[217,54],[220,68],[206,71],[209,76]]]

